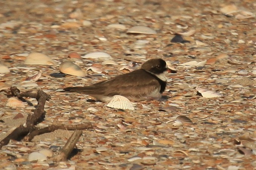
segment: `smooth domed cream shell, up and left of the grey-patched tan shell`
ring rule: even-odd
[[[26,65],[55,65],[57,63],[56,63],[56,61],[54,61],[53,59],[49,58],[48,56],[46,56],[42,53],[33,52],[27,56],[24,64],[26,64]]]

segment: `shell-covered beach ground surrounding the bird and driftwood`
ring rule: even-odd
[[[0,169],[256,168],[255,1],[17,0],[0,6],[0,64],[8,67],[0,67],[0,89],[51,95],[38,127],[93,124],[65,162],[54,155],[72,131],[58,130],[31,142],[11,140],[0,150]],[[148,29],[129,30],[134,26]],[[111,58],[85,58],[96,51]],[[25,65],[32,52],[56,63]],[[71,53],[83,57],[76,64],[86,76],[52,76]],[[62,91],[127,73],[151,58],[177,69],[168,74],[164,100],[123,111]],[[24,82],[38,71],[38,81]],[[18,102],[23,107],[6,106],[0,93],[0,140],[33,113],[37,101],[26,100]],[[46,161],[28,159],[42,150],[51,151]]]

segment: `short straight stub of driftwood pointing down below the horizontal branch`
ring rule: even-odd
[[[77,141],[79,140],[80,136],[82,135],[82,130],[75,131],[68,139],[65,146],[63,146],[61,152],[55,157],[57,162],[65,161],[68,158],[68,155],[72,152],[74,147],[76,146]]]

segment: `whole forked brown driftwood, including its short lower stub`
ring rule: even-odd
[[[93,128],[91,123],[79,124],[79,125],[49,125],[48,127],[45,127],[42,129],[35,127],[37,123],[43,120],[45,116],[45,111],[44,111],[45,103],[46,103],[46,100],[51,99],[51,96],[44,93],[42,90],[37,91],[37,93],[31,93],[31,92],[20,93],[20,90],[17,87],[11,87],[10,91],[4,90],[4,92],[8,97],[17,96],[21,100],[24,100],[23,97],[35,98],[37,99],[38,104],[36,106],[36,109],[34,110],[34,114],[28,115],[25,126],[21,124],[19,127],[14,129],[14,131],[12,131],[11,134],[9,134],[2,141],[0,141],[0,149],[2,149],[4,145],[8,144],[11,139],[14,139],[14,140],[24,139],[25,141],[31,141],[36,135],[53,132],[57,129],[79,130],[74,132],[74,134],[71,136],[71,138],[68,140],[66,144],[67,147],[63,148],[62,154],[64,154],[65,156],[60,157],[62,160],[62,159],[66,159],[67,156],[69,155],[70,147],[74,148],[74,145],[79,140],[79,137],[82,134],[82,130]]]

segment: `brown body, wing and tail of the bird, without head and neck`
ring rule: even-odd
[[[139,69],[130,73],[122,74],[112,79],[95,83],[86,87],[68,87],[66,91],[84,91],[91,95],[114,96],[121,95],[131,99],[148,96],[159,89],[160,82],[156,76],[148,71]]]

